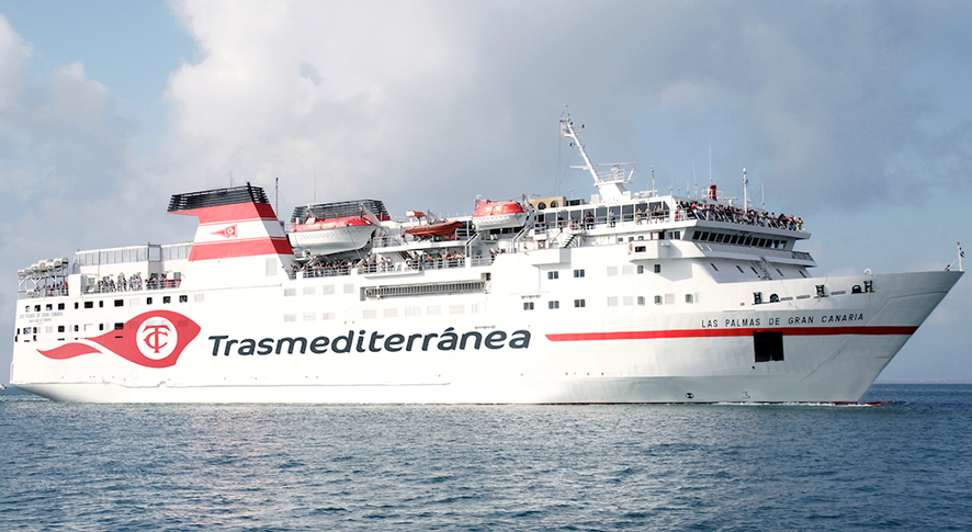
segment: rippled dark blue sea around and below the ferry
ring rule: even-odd
[[[972,530],[972,385],[862,406],[71,405],[0,392],[0,530]]]

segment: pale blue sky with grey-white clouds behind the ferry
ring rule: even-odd
[[[972,3],[0,0],[0,328],[16,271],[191,240],[171,194],[245,182],[471,214],[708,180],[803,217],[818,275],[972,249]],[[710,156],[711,154],[711,156]],[[710,173],[711,168],[711,173]],[[972,381],[962,279],[879,382]],[[0,346],[7,382],[12,341]]]

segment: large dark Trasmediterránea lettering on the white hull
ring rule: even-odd
[[[717,327],[717,324],[714,325]],[[399,351],[428,351],[434,349],[439,351],[464,351],[466,349],[527,349],[530,347],[530,331],[517,330],[507,333],[502,330],[494,330],[486,335],[478,331],[455,332],[454,327],[449,327],[442,333],[415,333],[415,335],[381,335],[376,331],[370,336],[365,330],[349,330],[347,335],[340,335],[334,338],[319,336],[313,339],[304,337],[284,337],[284,338],[263,338],[255,340],[252,338],[235,339],[226,335],[211,336],[208,338],[213,342],[213,356],[221,354],[229,356],[230,354],[249,355],[267,355],[267,354],[293,354],[312,352],[315,354],[326,353],[328,349],[332,353],[350,353],[352,350],[359,353],[372,352],[380,353],[383,350],[397,353]]]

